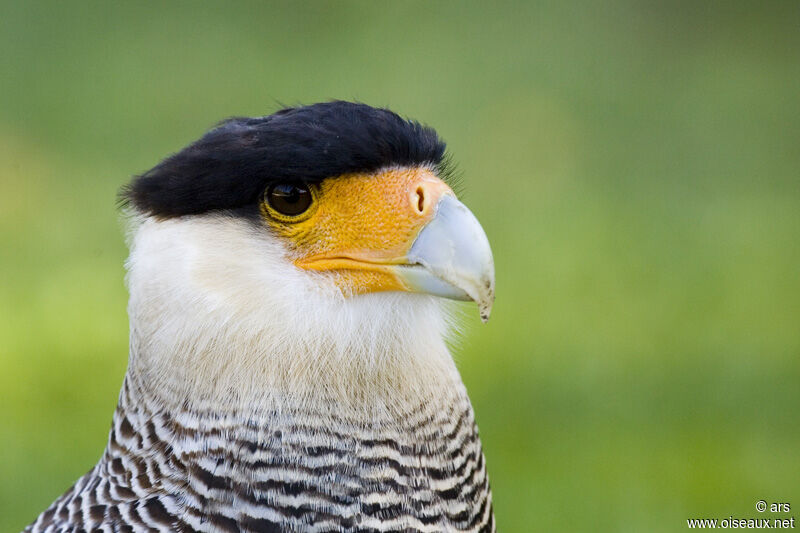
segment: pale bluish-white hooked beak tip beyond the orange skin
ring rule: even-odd
[[[494,259],[475,215],[451,194],[441,196],[425,224],[392,270],[410,291],[474,300],[486,322],[494,303]]]

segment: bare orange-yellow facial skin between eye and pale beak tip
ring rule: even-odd
[[[262,204],[268,224],[292,246],[295,264],[334,272],[345,293],[409,290],[388,265],[405,263],[436,204],[452,189],[428,168],[348,174],[312,186],[314,200],[296,218]]]

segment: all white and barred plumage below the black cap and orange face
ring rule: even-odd
[[[26,531],[494,531],[440,300],[347,298],[220,214],[131,244],[108,446]]]

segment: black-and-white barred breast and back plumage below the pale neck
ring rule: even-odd
[[[463,390],[402,419],[165,411],[126,377],[101,461],[28,532],[494,531]]]

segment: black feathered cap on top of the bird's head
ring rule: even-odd
[[[173,217],[255,204],[271,183],[393,165],[444,172],[445,144],[433,129],[388,109],[329,102],[226,120],[135,177],[121,197],[143,213]]]

